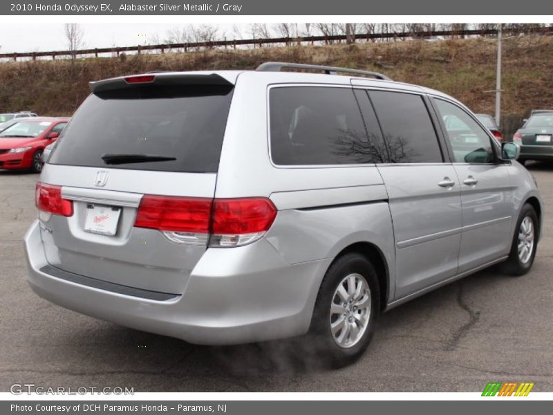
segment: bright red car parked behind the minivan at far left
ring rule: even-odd
[[[42,151],[55,142],[69,118],[24,118],[0,133],[0,169],[42,170]]]

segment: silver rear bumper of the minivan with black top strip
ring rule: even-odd
[[[330,265],[324,259],[292,266],[264,239],[241,248],[209,248],[185,292],[157,301],[43,272],[48,262],[39,221],[26,233],[24,244],[28,283],[40,297],[101,320],[196,344],[240,344],[306,333]]]

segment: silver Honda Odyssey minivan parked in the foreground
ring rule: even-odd
[[[342,364],[382,311],[532,266],[542,205],[518,147],[443,93],[274,62],[91,89],[24,239],[55,304],[198,344],[307,333]]]

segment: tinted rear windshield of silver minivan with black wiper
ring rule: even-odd
[[[217,172],[231,98],[232,86],[213,85],[92,94],[64,129],[48,163]],[[118,163],[106,163],[114,156]]]

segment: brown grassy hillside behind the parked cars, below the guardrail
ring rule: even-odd
[[[506,132],[516,128],[530,109],[553,107],[552,58],[551,37],[511,37],[503,42],[502,124]],[[379,71],[393,80],[449,93],[473,111],[494,113],[496,41],[486,38],[3,62],[0,111],[71,115],[88,95],[89,80],[161,69],[252,69],[270,60]]]

